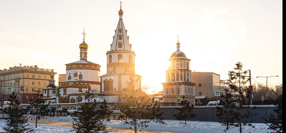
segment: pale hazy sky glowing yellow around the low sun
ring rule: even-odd
[[[80,60],[85,28],[88,60],[106,74],[119,0],[0,0],[0,69],[34,66],[65,74]],[[122,0],[123,22],[136,53],[135,71],[147,93],[162,90],[168,58],[180,51],[190,69],[228,79],[235,63],[255,81],[282,84],[282,0]],[[263,76],[256,78],[257,76]],[[55,79],[58,80],[57,75]]]

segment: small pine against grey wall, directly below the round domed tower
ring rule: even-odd
[[[179,111],[178,114],[175,114],[174,117],[176,117],[177,120],[184,120],[185,122],[180,122],[180,124],[187,124],[186,120],[188,118],[194,118],[196,114],[191,113],[192,109],[194,109],[194,105],[190,104],[190,101],[185,100],[185,96],[182,96],[180,105],[182,108],[176,109]]]

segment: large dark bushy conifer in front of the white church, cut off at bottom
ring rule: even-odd
[[[79,116],[74,116],[72,122],[74,128],[71,131],[76,131],[76,133],[106,133],[106,126],[103,124],[104,118],[100,113],[100,110],[96,109],[99,101],[92,99],[93,91],[88,91],[85,95],[86,100],[82,101],[80,107],[82,108],[82,113]]]

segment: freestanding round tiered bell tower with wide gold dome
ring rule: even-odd
[[[168,61],[171,66],[166,71],[166,82],[163,84],[163,101],[177,102],[177,95],[185,97],[184,100],[195,102],[195,85],[190,75],[190,59],[180,51],[180,43],[177,42],[177,51],[175,51]]]

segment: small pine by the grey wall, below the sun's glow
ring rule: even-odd
[[[156,119],[155,122],[164,124],[164,122],[162,121],[163,119],[162,114],[164,112],[158,113],[161,111],[158,101],[154,101],[154,98],[153,98],[152,101],[148,103],[148,105],[146,106],[146,110],[147,110],[147,112],[145,113],[146,118],[153,120],[153,122],[154,122],[154,119]]]

